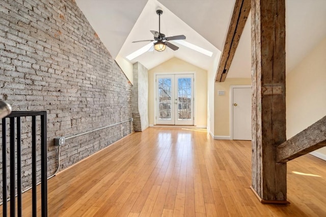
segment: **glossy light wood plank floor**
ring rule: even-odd
[[[326,163],[307,154],[287,165],[291,204],[261,204],[250,141],[149,128],[51,178],[48,216],[326,216]]]

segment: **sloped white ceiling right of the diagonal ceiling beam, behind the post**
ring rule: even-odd
[[[326,37],[325,0],[286,0],[286,73]],[[251,76],[251,13],[244,26],[228,78]]]

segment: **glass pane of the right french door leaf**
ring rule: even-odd
[[[178,120],[192,119],[192,78],[178,78]]]

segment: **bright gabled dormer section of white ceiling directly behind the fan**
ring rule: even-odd
[[[138,50],[139,48],[149,43],[132,43],[132,41],[153,39],[153,35],[150,33],[150,30],[158,31],[158,15],[156,14],[156,8],[160,8],[163,11],[163,14],[160,17],[161,33],[164,33],[167,37],[185,35],[185,41],[189,43],[200,46],[213,53],[218,51],[217,48],[215,48],[211,43],[199,35],[193,28],[189,27],[184,21],[182,21],[170,10],[168,10],[164,5],[160,4],[157,1],[150,0],[139,16],[137,22],[134,24],[129,36],[127,37],[124,45],[119,52],[119,55],[127,56],[131,52]],[[202,53],[181,46],[173,41],[170,41],[170,43],[178,46],[179,49],[173,51],[172,49],[167,48],[164,52],[157,52],[155,50],[146,52],[143,55],[132,59],[131,63],[139,61],[147,69],[151,69],[161,63],[164,63],[166,60],[172,57],[178,57],[203,69],[207,69],[211,65],[212,59],[214,57],[206,56]]]

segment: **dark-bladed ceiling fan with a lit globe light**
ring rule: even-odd
[[[135,42],[154,42],[154,49],[161,52],[166,49],[168,46],[172,50],[178,50],[179,47],[175,46],[174,44],[171,44],[168,41],[172,40],[183,40],[185,39],[184,35],[179,35],[179,36],[171,36],[171,37],[165,37],[165,34],[162,34],[160,32],[160,15],[163,13],[162,10],[156,10],[156,14],[158,15],[158,32],[154,30],[150,30],[150,32],[154,36],[154,40],[141,40],[141,41],[133,41],[132,43]]]

